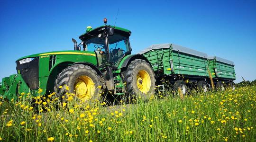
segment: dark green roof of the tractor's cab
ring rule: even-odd
[[[118,33],[120,35],[127,36],[127,37],[129,37],[131,35],[131,31],[128,29],[121,28],[121,27],[114,27],[114,26],[110,26],[110,27],[114,28],[114,33]],[[98,35],[99,33],[101,33],[101,31],[104,30],[102,28],[105,28],[105,26],[96,27],[96,28],[92,29],[91,31],[80,35],[79,39],[81,39],[82,41],[86,41],[87,39],[91,38],[92,36]]]

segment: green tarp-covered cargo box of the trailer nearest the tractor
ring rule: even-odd
[[[154,44],[141,51],[159,76],[186,75],[208,78],[208,55],[176,44]]]

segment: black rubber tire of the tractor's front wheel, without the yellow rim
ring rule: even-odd
[[[100,99],[100,93],[101,93],[101,82],[100,82],[100,76],[97,74],[95,70],[93,70],[90,66],[83,65],[83,64],[74,64],[72,66],[69,66],[65,68],[57,77],[55,80],[55,92],[56,96],[59,97],[61,101],[63,101],[62,97],[65,95],[66,92],[74,93],[74,85],[76,83],[76,80],[81,76],[88,76],[91,78],[91,80],[94,83],[94,94],[91,96],[91,99]],[[69,90],[66,90],[64,85],[67,85],[69,87]],[[60,86],[63,86],[63,88],[59,88]],[[88,89],[86,89],[88,90]],[[75,95],[75,99],[80,101],[79,98]]]

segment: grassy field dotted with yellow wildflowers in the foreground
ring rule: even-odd
[[[36,98],[38,107],[27,101],[3,102],[0,140],[256,141],[256,86],[207,94],[193,91],[184,99],[167,94],[172,93],[161,92],[146,103],[112,107],[97,100],[75,104],[70,94],[58,110],[56,100],[48,99],[54,94]]]

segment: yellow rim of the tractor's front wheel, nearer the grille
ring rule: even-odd
[[[88,76],[80,76],[75,80],[74,92],[82,101],[86,101],[92,98],[95,92],[95,86],[93,80]]]

